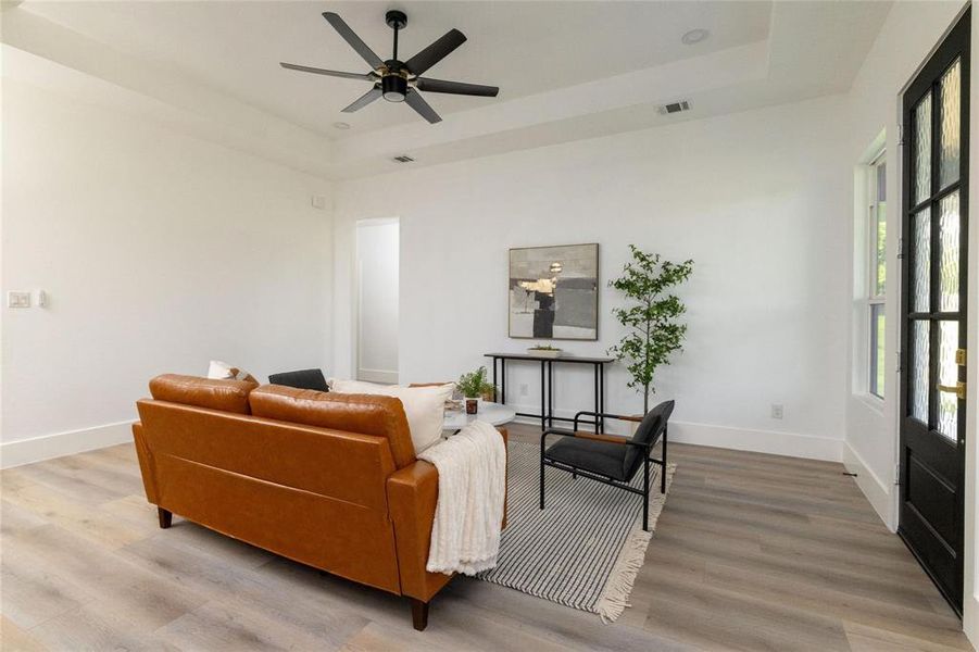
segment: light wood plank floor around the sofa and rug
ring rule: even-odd
[[[515,439],[535,439],[517,426]],[[131,446],[2,472],[3,650],[945,650],[958,619],[839,464],[692,446],[613,625],[456,578],[404,600],[174,518]]]

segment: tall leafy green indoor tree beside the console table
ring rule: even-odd
[[[623,275],[610,280],[608,286],[635,304],[612,311],[628,333],[608,348],[608,354],[626,363],[632,376],[629,387],[642,391],[642,413],[645,414],[650,408],[650,392],[655,391],[653,375],[656,367],[669,364],[670,354],[682,349],[687,325],[681,324],[679,317],[687,312],[687,306],[669,290],[690,277],[693,261],[670,263],[635,244],[629,244],[629,249],[631,262],[625,264]]]

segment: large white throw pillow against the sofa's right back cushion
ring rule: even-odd
[[[412,434],[415,454],[438,443],[442,438],[442,422],[445,418],[445,401],[452,397],[455,386],[436,385],[431,387],[404,387],[401,385],[377,385],[360,380],[329,379],[329,390],[337,393],[366,393],[401,399],[407,427]]]

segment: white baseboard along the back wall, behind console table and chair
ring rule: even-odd
[[[518,412],[538,412],[540,405],[518,405],[509,403]],[[555,416],[572,417],[574,412],[554,410]],[[517,417],[520,423],[540,424],[540,419]],[[570,427],[570,424],[563,424]],[[619,434],[625,434],[620,431]],[[730,426],[694,424],[689,422],[669,422],[669,440],[680,443],[712,446],[739,451],[788,455],[806,460],[824,460],[841,462],[843,460],[843,440],[829,437],[814,437],[795,432],[778,432],[774,430],[752,430]]]

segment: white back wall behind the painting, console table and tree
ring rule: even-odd
[[[830,316],[846,302],[851,184],[841,109],[824,98],[338,184],[337,372],[352,368],[354,220],[401,217],[402,381],[455,378],[487,351],[524,350],[506,337],[511,247],[600,243],[600,340],[561,344],[603,353],[620,333],[619,298],[604,284],[636,243],[695,261],[681,290],[687,351],[656,380],[660,397],[677,399],[672,432],[839,459],[846,324]],[[611,371],[610,410],[641,409],[626,380]],[[514,368],[510,401],[539,405],[538,383],[538,369]],[[555,390],[558,412],[590,409],[590,371],[562,367]]]

